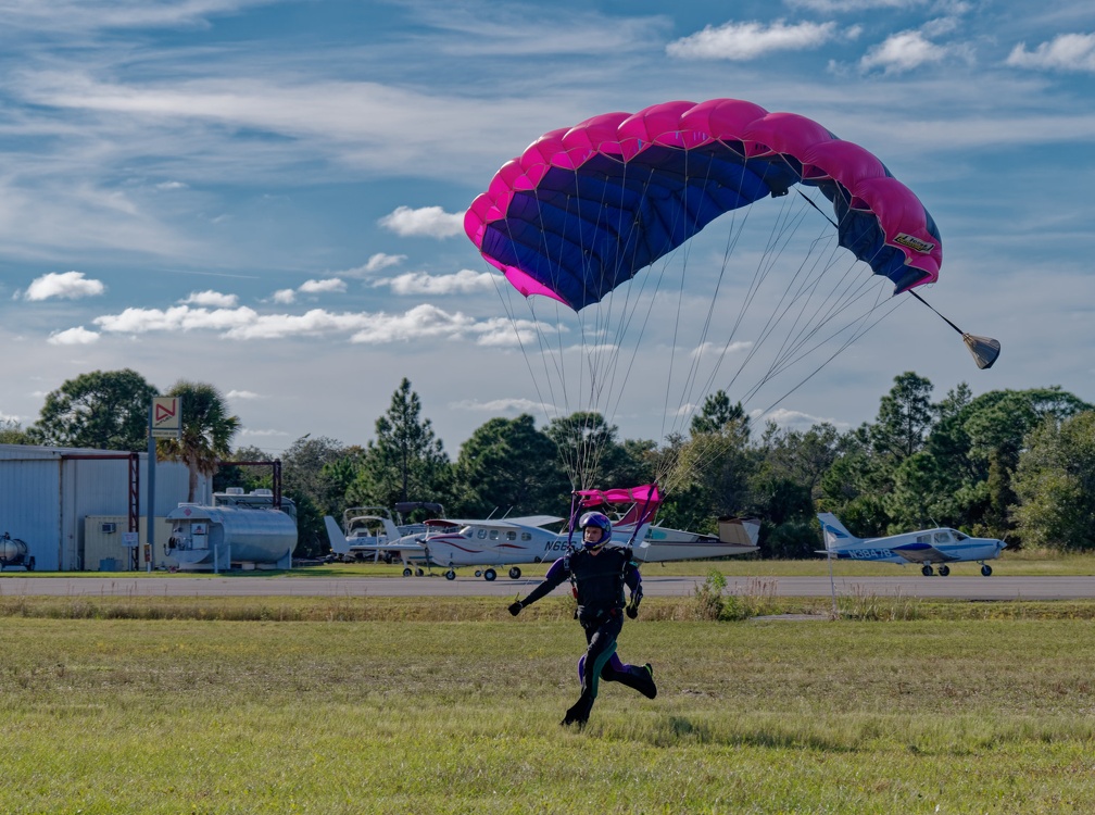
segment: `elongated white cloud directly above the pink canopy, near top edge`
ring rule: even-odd
[[[797,23],[786,25],[776,20],[771,25],[760,22],[707,25],[666,46],[671,57],[683,59],[756,59],[771,51],[816,48],[837,36],[835,23]]]

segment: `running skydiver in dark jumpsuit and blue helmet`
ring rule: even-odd
[[[602,513],[586,513],[578,521],[578,528],[581,530],[581,548],[552,563],[539,586],[523,600],[509,605],[509,613],[516,617],[522,608],[570,578],[578,599],[577,619],[586,632],[587,648],[578,661],[581,696],[566,711],[560,724],[581,727],[589,720],[589,712],[597,700],[600,679],[626,685],[647,699],[654,699],[658,688],[654,684],[654,668],[649,663],[642,667],[626,665],[615,653],[624,613],[635,619],[643,599],[643,578],[638,574],[638,565],[632,560],[631,547],[607,546],[612,539],[612,523]],[[625,585],[631,589],[631,601],[626,605]]]

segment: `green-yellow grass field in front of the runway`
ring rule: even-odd
[[[652,598],[575,732],[564,598],[4,602],[4,813],[1095,812],[1091,604]]]

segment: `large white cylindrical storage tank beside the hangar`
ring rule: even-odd
[[[168,520],[168,554],[182,571],[292,567],[297,524],[279,509],[180,504]]]

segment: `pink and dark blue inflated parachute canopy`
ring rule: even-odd
[[[935,222],[877,158],[809,118],[733,99],[546,133],[503,165],[464,230],[522,295],[577,311],[724,213],[796,184],[829,199],[840,245],[895,294],[938,277]]]

